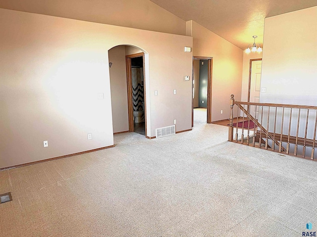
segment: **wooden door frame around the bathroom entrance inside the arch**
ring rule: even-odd
[[[143,59],[143,93],[144,93],[144,120],[145,120],[145,136],[147,137],[147,111],[146,111],[146,84],[145,84],[145,62],[144,53],[135,53],[125,56],[126,73],[127,73],[127,93],[128,93],[128,117],[129,117],[129,132],[134,132],[133,120],[133,90],[132,90],[132,72],[131,72],[131,59],[142,57]]]

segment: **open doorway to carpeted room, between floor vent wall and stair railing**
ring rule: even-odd
[[[192,127],[211,123],[212,58],[193,57]]]

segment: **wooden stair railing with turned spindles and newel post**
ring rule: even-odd
[[[233,139],[233,107],[234,105],[237,105],[237,123],[236,123],[235,139]],[[247,110],[245,109],[245,107],[247,107]],[[251,109],[250,109],[251,107],[255,108],[254,112],[251,112]],[[264,110],[264,107],[266,107],[265,110]],[[257,110],[257,108],[259,108],[259,111]],[[278,108],[281,108],[281,109],[278,109]],[[285,108],[289,108],[290,110],[285,110]],[[243,113],[243,117],[241,121],[242,127],[241,125],[238,126],[238,120],[241,118],[241,117],[239,118],[239,110]],[[298,115],[297,113],[295,113],[297,111],[298,111]],[[312,111],[315,111],[315,114],[316,114],[315,117],[312,117],[313,116],[311,113]],[[261,116],[260,116],[260,112],[261,112]],[[255,118],[251,115],[251,113],[255,113]],[[259,113],[258,119],[257,119],[257,113]],[[294,121],[292,126],[293,115],[294,117],[297,117],[297,119],[295,118],[293,119]],[[314,124],[312,124],[311,119],[314,119],[315,121]],[[231,95],[229,120],[230,120],[229,134],[228,134],[229,141],[238,142],[238,128],[240,127],[242,128],[241,129],[242,130],[241,144],[264,148],[266,150],[270,148],[270,150],[272,151],[285,153],[288,155],[294,154],[294,156],[296,157],[298,157],[299,154],[302,153],[300,154],[302,158],[308,158],[308,155],[306,155],[306,151],[307,149],[311,149],[311,152],[310,150],[308,151],[308,153],[310,153],[309,158],[314,160],[315,148],[316,148],[315,147],[316,135],[317,135],[317,106],[241,102],[241,101],[235,101],[234,95]],[[250,121],[253,121],[255,124],[254,127],[251,128],[254,130],[252,143],[250,143],[250,139],[252,139],[252,135],[250,136]],[[247,122],[248,124],[246,124]],[[263,125],[263,122],[264,123],[266,122],[266,124]],[[294,123],[296,124],[296,127],[294,126]],[[246,128],[244,128],[244,126],[246,126]],[[264,128],[264,126],[266,129]],[[299,129],[300,126],[304,127],[305,130],[303,131],[303,128]],[[313,129],[314,129],[314,137],[308,138],[307,137],[308,133],[312,134]],[[247,130],[248,132],[248,135],[246,137],[244,137],[244,130]],[[291,136],[292,131],[293,133],[296,132],[296,136]],[[257,139],[257,142],[256,142],[256,139]],[[262,146],[262,143],[265,144],[265,146],[264,145]],[[287,144],[286,149],[283,147],[283,143]],[[270,147],[270,145],[272,146]],[[298,153],[298,149],[300,147],[302,147],[303,149],[302,149],[302,152]]]

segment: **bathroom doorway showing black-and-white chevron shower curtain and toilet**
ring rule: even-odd
[[[127,55],[126,60],[127,81],[130,85],[128,88],[131,89],[131,91],[128,92],[131,96],[129,106],[132,112],[132,116],[130,116],[131,131],[146,136],[144,53]]]

